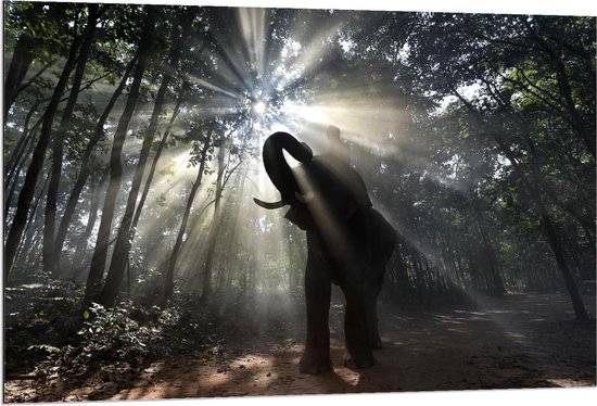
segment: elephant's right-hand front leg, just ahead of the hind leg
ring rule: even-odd
[[[356,281],[358,282],[358,279]],[[344,315],[346,355],[344,365],[350,368],[369,368],[376,364],[376,360],[369,346],[366,292],[363,286],[347,286],[343,289],[346,296]]]

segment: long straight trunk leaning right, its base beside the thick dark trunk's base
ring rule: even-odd
[[[190,21],[189,21],[190,26]],[[178,60],[182,51],[182,45],[185,43],[183,39],[188,33],[188,27],[185,28],[185,34],[182,38],[179,38],[175,48],[172,50],[168,58],[168,63],[164,64],[164,77],[162,79],[162,85],[157,90],[157,96],[155,98],[155,104],[153,107],[153,113],[150,119],[149,128],[143,137],[143,143],[141,145],[141,152],[139,154],[139,162],[135,168],[135,175],[132,177],[132,185],[128,193],[127,204],[125,207],[125,214],[120,220],[120,226],[118,228],[118,234],[116,238],[116,244],[114,246],[114,253],[112,254],[112,261],[110,263],[110,269],[107,271],[105,284],[99,296],[100,303],[106,307],[112,307],[116,303],[118,297],[118,289],[123,281],[126,266],[128,264],[128,255],[130,252],[130,246],[132,244],[134,230],[131,230],[132,218],[135,216],[135,208],[137,206],[137,198],[139,196],[139,190],[141,188],[141,181],[143,179],[143,173],[145,170],[145,164],[148,162],[149,153],[151,150],[151,144],[157,129],[157,124],[160,120],[160,115],[164,109],[164,103],[166,100],[166,91],[173,79],[173,71],[178,65]],[[138,211],[140,213],[140,210]]]

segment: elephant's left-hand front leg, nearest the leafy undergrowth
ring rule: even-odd
[[[332,370],[330,329],[328,327],[331,275],[327,269],[316,266],[310,259],[310,257],[307,259],[305,272],[307,343],[301,358],[300,370],[303,373],[322,373]]]

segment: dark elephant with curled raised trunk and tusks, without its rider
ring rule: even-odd
[[[290,167],[284,150],[298,166]],[[381,347],[377,299],[397,241],[395,229],[372,208],[358,173],[334,154],[314,156],[306,143],[278,131],[265,141],[263,162],[281,199],[255,203],[268,210],[289,205],[285,218],[306,231],[307,337],[301,372],[333,371],[328,323],[332,283],[346,301],[344,365],[373,366],[372,350]]]

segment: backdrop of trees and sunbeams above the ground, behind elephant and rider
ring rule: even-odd
[[[3,2],[4,286],[301,292],[261,163],[339,127],[399,233],[388,304],[595,287],[595,18]]]

